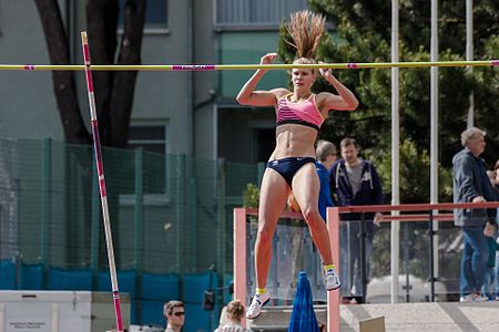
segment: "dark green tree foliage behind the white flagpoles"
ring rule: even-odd
[[[317,59],[325,62],[389,62],[391,3],[384,0],[309,0],[309,7],[323,13],[333,29],[324,37]],[[442,1],[439,8],[439,60],[465,60],[466,1]],[[400,1],[400,61],[429,61],[430,3]],[[475,3],[475,59],[499,56],[499,2]],[[285,34],[285,29],[281,30]],[[291,62],[294,50],[279,44],[279,54]],[[430,70],[400,69],[400,148],[403,203],[428,201],[430,146]],[[495,68],[440,68],[439,76],[439,145],[440,187],[448,198],[451,157],[460,147],[460,133],[466,129],[469,95],[475,93],[475,125],[488,132],[485,158],[495,163],[499,151],[498,108],[499,75]],[[391,77],[386,69],[336,71],[340,82],[354,91],[360,105],[357,112],[332,112],[320,132],[320,138],[338,143],[345,136],[355,137],[370,158],[390,162]],[[320,80],[317,91],[332,91]],[[334,91],[333,91],[334,92]],[[406,160],[406,162],[404,162]],[[414,164],[413,172],[405,166]],[[419,167],[416,167],[418,165]],[[387,165],[386,165],[387,166]],[[389,188],[389,169],[383,172]],[[422,172],[418,172],[422,170]],[[411,193],[407,193],[411,191]],[[447,193],[447,194],[446,194]]]

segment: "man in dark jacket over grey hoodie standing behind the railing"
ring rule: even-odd
[[[338,206],[381,205],[383,190],[378,173],[374,165],[358,157],[358,147],[354,138],[344,138],[339,144],[342,159],[332,169],[332,189],[337,197]],[[361,220],[360,214],[345,214],[342,216],[340,248],[342,248],[342,294],[355,297],[363,294],[363,273],[360,267]],[[381,214],[364,215],[366,224],[365,267],[366,277],[369,276],[369,258],[373,253],[373,237],[375,224],[379,226]],[[348,220],[348,221],[347,221]],[[345,298],[346,299],[346,298]],[[350,302],[354,303],[354,302]]]

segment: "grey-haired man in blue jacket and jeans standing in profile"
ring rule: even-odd
[[[465,147],[452,158],[454,203],[493,201],[487,166],[479,156],[485,152],[486,132],[471,127],[461,133]],[[489,249],[486,235],[493,232],[495,209],[455,209],[455,225],[465,238],[460,271],[460,301],[487,301],[480,288],[487,270]]]

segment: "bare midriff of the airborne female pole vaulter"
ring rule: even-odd
[[[284,124],[275,129],[276,146],[269,160],[287,157],[315,158],[317,131],[298,124]]]

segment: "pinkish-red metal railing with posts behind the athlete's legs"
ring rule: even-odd
[[[435,237],[438,235],[437,231],[432,229],[432,221],[448,222],[452,221],[454,217],[449,214],[437,214],[437,211],[448,211],[459,208],[479,208],[479,209],[497,209],[499,208],[499,203],[480,203],[480,204],[411,204],[411,205],[378,205],[378,206],[352,206],[352,207],[335,207],[327,209],[327,226],[332,246],[333,260],[335,262],[340,262],[340,214],[366,214],[366,212],[409,212],[409,215],[393,215],[384,216],[383,222],[391,221],[403,221],[403,222],[415,222],[422,221],[427,222],[427,243],[428,243],[428,282],[430,284],[428,292],[428,301],[435,301],[435,282],[438,281],[434,271],[434,245]],[[419,214],[414,214],[419,212]],[[422,214],[421,214],[422,212]],[[252,255],[248,255],[248,217],[255,218],[257,216],[256,209],[245,209],[236,208],[234,209],[234,297],[236,299],[248,300],[247,289],[248,289],[248,267],[253,260]],[[284,212],[281,218],[292,218],[292,219],[303,219],[301,214],[296,212]],[[361,224],[361,242],[366,239],[366,218],[360,218]],[[366,294],[367,286],[367,274],[365,269],[366,258],[365,258],[365,246],[361,246],[363,259],[361,259],[361,270],[363,270],[363,297]],[[456,252],[456,256],[458,252]],[[283,262],[286,263],[286,262]],[[289,263],[289,262],[287,262]],[[342,267],[338,263],[338,269]],[[307,271],[309,274],[309,271]],[[459,276],[459,271],[455,271],[456,278]],[[398,280],[398,279],[397,279]],[[268,284],[277,282],[276,280],[268,280]],[[328,331],[337,332],[339,331],[339,303],[340,303],[340,292],[335,290],[327,292],[327,305],[328,305]]]

